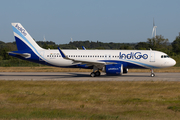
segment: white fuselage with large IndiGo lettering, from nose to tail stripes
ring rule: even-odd
[[[154,50],[63,50],[71,59],[127,64],[127,68],[164,68],[176,64],[167,54]],[[41,50],[40,55],[54,66],[70,67],[78,63],[63,59],[58,50]],[[126,65],[124,65],[126,66]]]

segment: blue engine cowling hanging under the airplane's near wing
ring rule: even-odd
[[[123,64],[110,64],[105,66],[105,72],[107,75],[122,75]]]

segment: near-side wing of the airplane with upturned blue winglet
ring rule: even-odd
[[[107,64],[116,64],[113,62],[101,62],[97,60],[78,60],[78,59],[71,59],[67,55],[64,54],[64,52],[58,47],[59,52],[61,53],[61,56],[66,60],[72,60],[73,63],[79,63],[79,64],[86,64],[86,66],[96,66],[99,69],[102,69]]]

